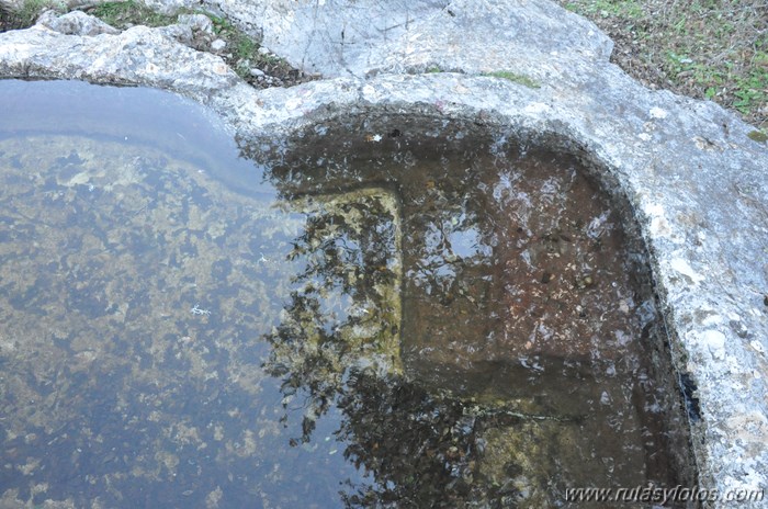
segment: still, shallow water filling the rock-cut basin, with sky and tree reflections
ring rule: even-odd
[[[0,92],[3,502],[690,482],[645,255],[575,158],[418,114],[236,147],[157,91]]]

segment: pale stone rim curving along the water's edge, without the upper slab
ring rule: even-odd
[[[571,140],[626,196],[650,251],[674,364],[698,386],[702,418],[691,427],[700,487],[726,494],[768,484],[768,149],[747,137],[750,126],[713,103],[644,89],[600,61],[591,64],[595,83],[578,91],[453,72],[257,91],[217,57],[179,44],[172,31],[137,26],[83,37],[36,25],[3,33],[0,78],[165,89],[207,106],[241,140],[284,138],[376,110],[485,116]],[[617,90],[632,102],[617,104]]]

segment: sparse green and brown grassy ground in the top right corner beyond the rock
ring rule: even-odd
[[[644,84],[710,99],[768,131],[768,1],[557,1],[605,31],[612,60]]]

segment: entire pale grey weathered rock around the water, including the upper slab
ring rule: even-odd
[[[641,223],[673,355],[698,386],[701,486],[768,484],[768,147],[753,127],[714,103],[644,89],[608,61],[603,34],[545,0],[208,5],[332,79],[256,91],[173,29],[65,35],[42,24],[0,34],[0,77],[171,90],[246,139],[383,108],[568,139]],[[433,66],[451,72],[409,73]],[[495,71],[512,79],[481,76]]]

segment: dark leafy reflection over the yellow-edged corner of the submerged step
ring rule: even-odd
[[[399,365],[399,234],[393,200],[384,191],[358,191],[325,202],[300,200],[307,215],[289,260],[301,267],[282,323],[267,337],[268,367],[293,396],[303,388],[315,420],[343,392],[351,366],[395,373]]]

